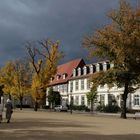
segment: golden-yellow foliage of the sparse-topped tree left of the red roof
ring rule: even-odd
[[[40,102],[44,97],[45,89],[50,81],[50,78],[53,77],[57,72],[57,63],[62,57],[62,53],[59,52],[59,43],[45,41],[43,46],[47,49],[45,60],[39,59],[37,63],[32,61],[32,66],[35,69],[35,73],[32,77],[32,97],[36,102]],[[32,57],[32,56],[31,56]],[[33,57],[32,57],[33,58]]]

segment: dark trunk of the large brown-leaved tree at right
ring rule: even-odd
[[[128,95],[128,82],[125,83],[124,93],[122,95],[122,103],[121,103],[121,118],[126,119],[126,100]]]

